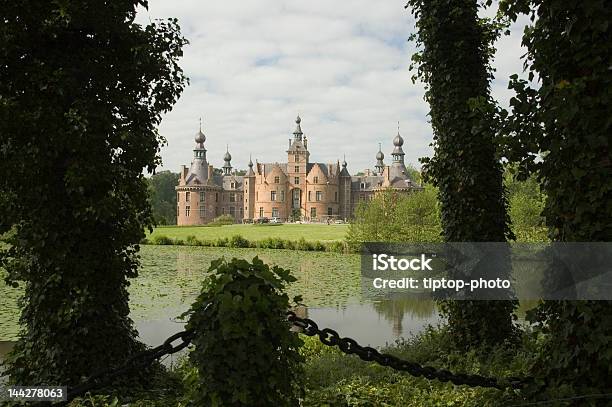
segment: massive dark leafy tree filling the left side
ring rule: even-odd
[[[0,223],[15,237],[0,265],[25,284],[14,383],[75,385],[144,348],[127,278],[186,41],[176,20],[134,23],[139,5],[2,1],[0,195],[15,199],[0,201]]]

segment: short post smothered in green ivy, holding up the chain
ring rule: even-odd
[[[303,343],[290,331],[284,292],[295,277],[257,257],[218,259],[209,272],[187,313],[187,329],[196,332],[189,359],[198,372],[188,383],[189,405],[298,405]]]

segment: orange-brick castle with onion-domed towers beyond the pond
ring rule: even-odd
[[[384,164],[379,146],[375,170],[351,176],[346,160],[342,164],[311,162],[299,116],[295,122],[287,162],[253,164],[249,160],[245,175],[232,171],[229,150],[223,157],[222,171],[208,163],[206,136],[200,126],[191,167],[182,166],[176,187],[177,224],[206,224],[224,214],[234,217],[237,223],[263,218],[347,220],[360,201],[371,199],[380,190],[392,188],[408,193],[422,189],[408,176],[402,150],[404,140],[399,131],[393,139],[390,165]]]

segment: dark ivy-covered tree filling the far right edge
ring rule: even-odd
[[[612,8],[597,0],[516,0],[501,11],[511,20],[530,16],[525,66],[540,84],[512,77],[508,159],[524,176],[537,174],[552,240],[610,242]],[[529,318],[543,339],[535,372],[543,382],[572,394],[612,391],[609,301],[545,301]]]

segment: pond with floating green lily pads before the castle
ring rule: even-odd
[[[297,281],[289,295],[302,295],[300,311],[320,327],[337,330],[360,344],[384,346],[402,336],[436,324],[430,301],[372,301],[361,295],[359,255],[273,249],[230,249],[187,246],[142,246],[142,269],[131,280],[131,317],[141,339],[158,345],[180,331],[176,317],[186,311],[200,291],[210,262],[216,258],[259,256],[268,264],[290,269]],[[1,276],[0,276],[1,277]],[[0,280],[0,358],[18,332],[17,299],[20,289]]]

